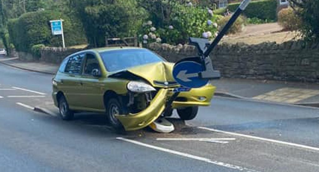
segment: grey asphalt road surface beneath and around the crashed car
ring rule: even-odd
[[[0,65],[0,171],[319,171],[317,108],[215,97],[174,133],[116,134],[103,114],[33,111],[52,77]]]

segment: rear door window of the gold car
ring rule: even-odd
[[[68,64],[65,67],[65,73],[81,74],[84,57],[85,57],[84,54],[79,54],[79,55],[70,57]]]

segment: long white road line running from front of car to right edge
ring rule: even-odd
[[[217,129],[213,129],[213,128],[207,128],[207,127],[198,127],[198,128],[204,129],[204,130],[208,130],[208,131],[217,132],[217,133],[230,134],[230,135],[235,135],[235,136],[240,136],[240,137],[247,137],[247,138],[250,138],[250,139],[268,141],[268,142],[273,142],[273,143],[278,143],[278,144],[283,144],[283,145],[289,145],[289,146],[294,146],[294,147],[299,147],[299,148],[305,148],[305,149],[311,149],[311,150],[319,151],[319,148],[317,148],[317,147],[301,145],[301,144],[297,144],[297,143],[291,143],[291,142],[286,142],[286,141],[278,141],[278,140],[274,140],[274,139],[267,139],[267,138],[263,138],[263,137],[252,136],[252,135],[233,133],[233,132],[222,131],[222,130],[217,130]]]

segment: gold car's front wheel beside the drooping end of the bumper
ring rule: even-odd
[[[106,105],[106,114],[108,121],[117,132],[124,131],[124,127],[120,120],[118,120],[115,115],[117,114],[123,114],[123,107],[121,106],[121,103],[116,98],[111,98],[108,100]]]

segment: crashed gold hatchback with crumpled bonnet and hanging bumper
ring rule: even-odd
[[[209,106],[216,89],[207,84],[174,95],[174,63],[144,48],[112,47],[77,52],[65,58],[52,79],[53,100],[63,120],[74,112],[106,114],[115,129],[137,130],[172,110],[192,120],[198,106]]]

